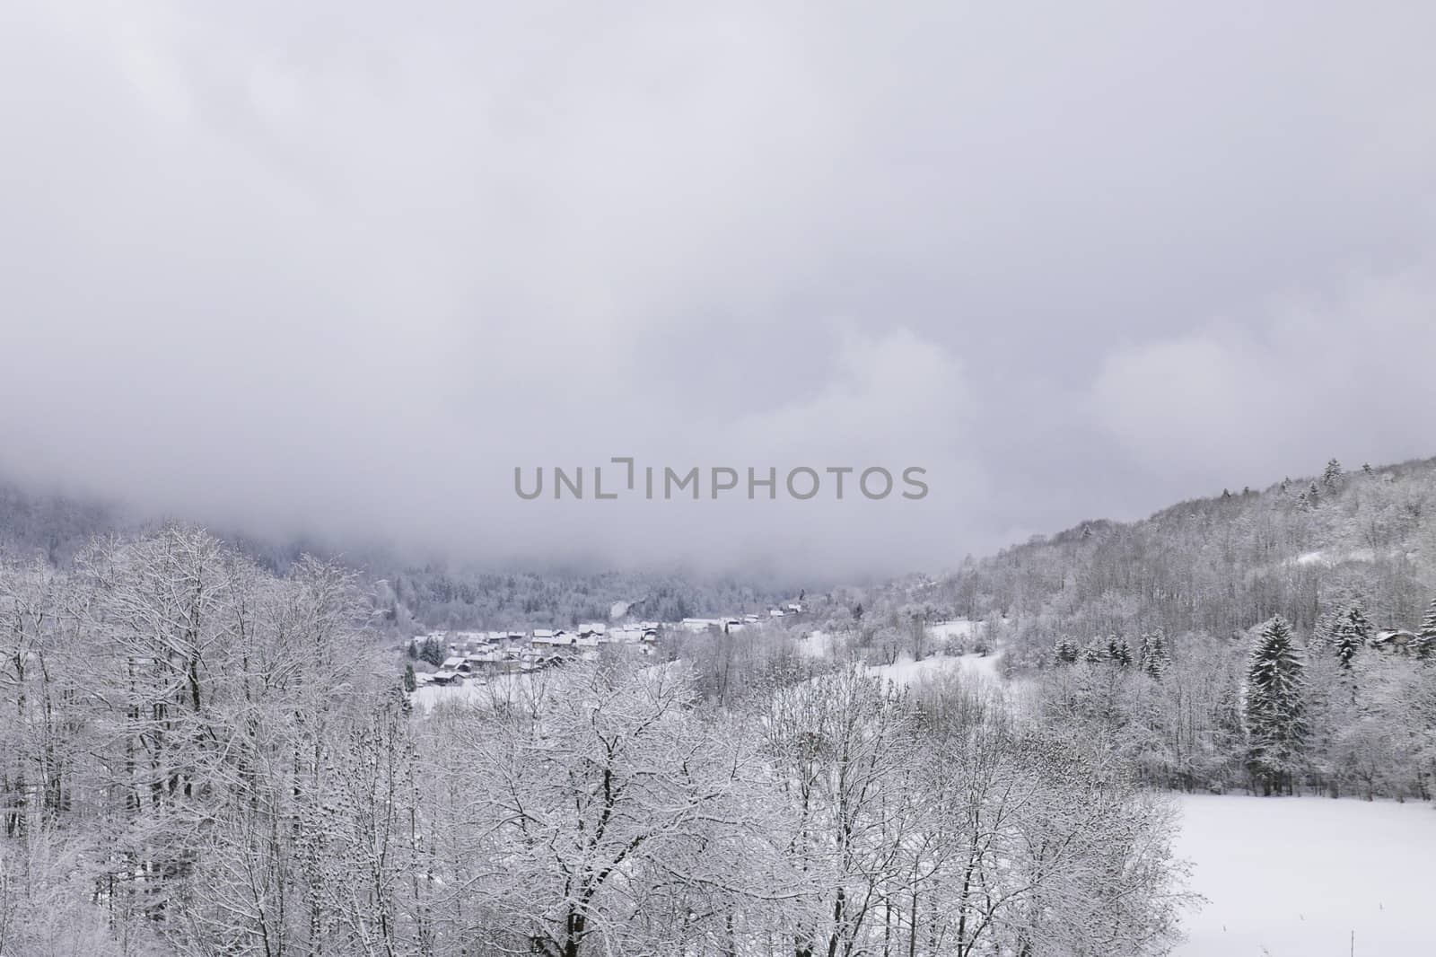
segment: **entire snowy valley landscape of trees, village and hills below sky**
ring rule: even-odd
[[[1333,461],[938,578],[516,606],[11,489],[0,953],[1402,953],[1433,496]],[[1400,877],[1317,907],[1294,842]]]

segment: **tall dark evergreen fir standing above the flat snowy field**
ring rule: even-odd
[[[1261,629],[1246,662],[1244,714],[1248,767],[1265,793],[1291,793],[1301,769],[1307,724],[1302,661],[1281,615]]]

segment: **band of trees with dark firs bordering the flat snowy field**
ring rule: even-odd
[[[1400,651],[1371,647],[1353,612],[1307,634],[1281,616],[1188,634],[1170,654],[1162,632],[1058,642],[1025,683],[1045,720],[1110,740],[1153,786],[1432,800],[1436,605]]]

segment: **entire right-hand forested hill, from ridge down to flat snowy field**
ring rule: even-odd
[[[912,621],[985,622],[1038,711],[1152,785],[1433,796],[1436,460],[1331,460],[824,611],[859,649]]]

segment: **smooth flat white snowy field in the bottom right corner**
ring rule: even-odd
[[[1178,855],[1208,898],[1175,957],[1436,954],[1436,810],[1425,803],[1189,795]],[[1356,931],[1356,948],[1351,931]]]

